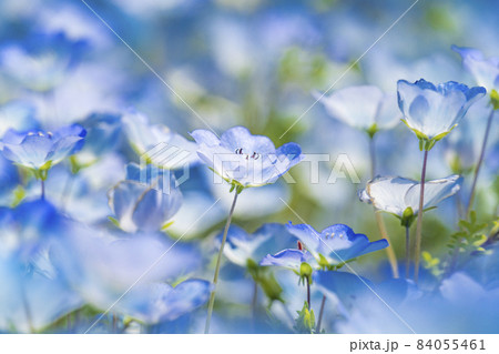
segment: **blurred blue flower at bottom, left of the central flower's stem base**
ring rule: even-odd
[[[174,321],[204,305],[211,283],[187,280],[175,287],[165,283],[142,284],[132,289],[116,304],[116,310],[146,324]]]

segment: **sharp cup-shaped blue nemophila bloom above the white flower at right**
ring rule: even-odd
[[[424,79],[415,83],[399,80],[397,88],[403,121],[418,136],[421,150],[430,150],[446,136],[486,93],[481,87],[468,88],[454,81],[435,85]]]

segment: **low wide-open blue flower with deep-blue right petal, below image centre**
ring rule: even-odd
[[[344,224],[335,224],[317,232],[307,224],[289,223],[287,230],[303,243],[303,246],[267,255],[262,265],[285,264],[286,267],[295,267],[296,264],[306,262],[315,269],[335,269],[360,255],[388,246],[385,239],[369,242],[366,235],[357,234]]]

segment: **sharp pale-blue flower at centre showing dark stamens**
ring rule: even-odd
[[[207,130],[195,130],[191,135],[201,160],[238,188],[274,183],[303,159],[298,144],[275,149],[271,139],[252,135],[244,127],[231,128],[220,139]]]

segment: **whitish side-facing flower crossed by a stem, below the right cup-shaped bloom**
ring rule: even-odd
[[[445,179],[425,182],[422,210],[434,209],[446,198],[456,194],[462,178],[454,174]],[[358,192],[360,201],[394,214],[404,225],[410,225],[419,212],[420,183],[399,176],[377,176]]]

